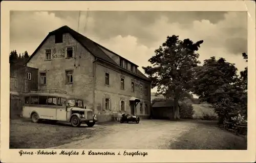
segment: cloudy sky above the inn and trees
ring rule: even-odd
[[[142,73],[172,35],[204,40],[197,51],[202,63],[215,56],[235,63],[239,71],[247,66],[242,57],[247,52],[246,12],[81,11],[79,18],[79,11],[11,11],[10,51],[31,55],[49,32],[65,25],[139,65]]]

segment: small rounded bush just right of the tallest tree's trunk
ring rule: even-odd
[[[180,118],[181,119],[193,119],[195,113],[191,103],[181,102],[180,104]]]

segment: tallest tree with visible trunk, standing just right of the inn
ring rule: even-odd
[[[166,41],[155,50],[155,56],[148,61],[153,66],[142,67],[152,79],[152,88],[167,99],[174,97],[174,118],[179,119],[179,99],[189,90],[188,81],[192,78],[189,69],[196,67],[199,50],[203,40],[196,43],[190,39],[179,40],[179,36],[167,36]]]

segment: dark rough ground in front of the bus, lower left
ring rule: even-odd
[[[10,121],[10,149],[50,148],[82,138],[90,138],[102,127],[72,127],[69,124],[49,122],[32,123],[30,120]]]

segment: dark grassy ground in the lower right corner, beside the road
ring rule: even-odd
[[[247,141],[222,130],[216,126],[216,121],[191,121],[196,127],[184,132],[176,142],[170,144],[170,149],[212,149],[212,150],[246,150]]]

